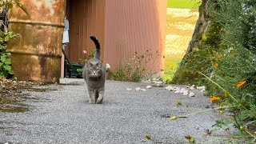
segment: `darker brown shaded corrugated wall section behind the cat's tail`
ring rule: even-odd
[[[104,46],[105,0],[70,0],[70,44],[68,55],[71,61],[82,58],[82,50],[90,52],[94,43],[89,35],[96,35]],[[102,50],[102,57],[104,49]]]

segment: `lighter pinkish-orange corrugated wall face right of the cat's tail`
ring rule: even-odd
[[[107,0],[104,60],[112,70],[134,52],[150,50],[153,61],[145,63],[150,73],[164,65],[166,0]]]

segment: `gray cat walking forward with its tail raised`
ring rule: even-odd
[[[90,39],[94,41],[96,52],[94,58],[91,58],[84,66],[82,77],[86,80],[90,100],[89,103],[102,103],[105,90],[105,67],[100,61],[100,44],[98,39],[90,35]]]

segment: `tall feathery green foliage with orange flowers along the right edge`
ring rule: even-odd
[[[210,30],[201,45],[210,51],[212,72],[202,72],[210,80],[204,81],[207,92],[220,96],[220,105],[231,107],[228,110],[234,116],[228,122],[240,130],[239,138],[255,142],[256,2],[217,0],[210,8],[210,18],[216,31]]]

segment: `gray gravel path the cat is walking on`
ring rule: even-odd
[[[26,92],[33,97],[26,101],[29,111],[0,112],[0,143],[187,143],[187,134],[197,143],[209,143],[206,129],[214,125],[213,112],[168,118],[206,109],[209,98],[198,90],[193,90],[194,98],[164,87],[135,90],[146,86],[106,81],[106,95],[100,105],[87,102],[88,91],[82,80],[73,85],[42,86],[52,89],[46,92]],[[182,106],[176,105],[177,99]],[[153,140],[146,140],[146,134]]]

